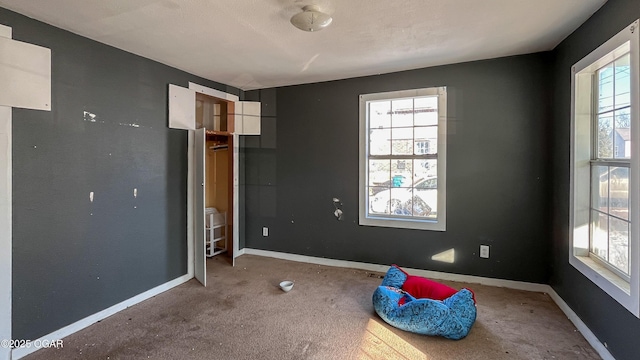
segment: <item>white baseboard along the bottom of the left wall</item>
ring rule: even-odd
[[[133,306],[135,304],[138,304],[140,302],[143,302],[144,300],[147,300],[153,296],[156,296],[160,293],[163,293],[171,288],[174,288],[180,284],[183,284],[187,281],[189,281],[190,279],[192,279],[193,276],[189,276],[188,274],[186,275],[182,275],[179,278],[176,278],[174,280],[171,280],[169,282],[166,282],[162,285],[158,285],[156,287],[154,287],[153,289],[147,290],[145,292],[143,292],[142,294],[136,295],[130,299],[127,299],[121,303],[115,304],[110,308],[104,309],[100,312],[97,312],[93,315],[87,316],[86,318],[82,319],[82,320],[78,320],[76,322],[74,322],[73,324],[67,325],[65,327],[63,327],[62,329],[56,330],[50,334],[47,334],[37,340],[33,340],[31,343],[41,343],[45,340],[60,340],[66,336],[69,336],[77,331],[80,331],[90,325],[95,324],[96,322],[106,319],[107,317],[122,311],[130,306]],[[13,349],[11,351],[11,359],[20,359],[22,357],[25,357],[33,352],[36,352],[37,350],[40,350],[39,348],[16,348]]]

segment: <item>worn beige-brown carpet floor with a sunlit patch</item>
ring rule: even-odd
[[[371,304],[378,273],[251,255],[207,267],[206,288],[191,280],[25,359],[599,359],[543,293],[445,281],[478,303],[453,341],[384,323]]]

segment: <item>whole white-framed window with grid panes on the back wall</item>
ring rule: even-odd
[[[446,228],[446,88],[360,96],[360,225]]]

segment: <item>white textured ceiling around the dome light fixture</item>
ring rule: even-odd
[[[553,49],[606,0],[0,0],[243,90]],[[318,32],[289,19],[317,4]]]

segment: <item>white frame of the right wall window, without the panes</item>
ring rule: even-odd
[[[578,61],[571,68],[571,182],[569,263],[636,317],[640,317],[640,114],[639,20]],[[629,171],[629,280],[589,256],[593,74],[630,53],[631,163]]]

